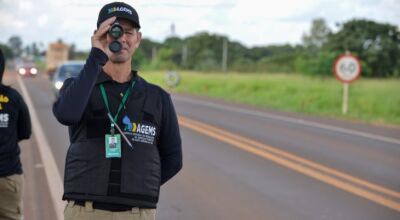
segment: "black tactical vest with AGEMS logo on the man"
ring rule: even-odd
[[[133,144],[131,149],[121,137],[121,194],[107,195],[111,160],[105,157],[104,136],[110,131],[110,121],[96,84],[80,123],[69,127],[71,145],[65,164],[63,199],[156,208],[161,179],[157,143],[162,90],[139,76],[135,79],[135,87],[118,118],[119,127]],[[114,115],[121,96],[111,81],[103,85]]]

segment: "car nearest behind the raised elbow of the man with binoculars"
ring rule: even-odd
[[[71,77],[77,77],[85,65],[84,61],[72,60],[67,61],[58,66],[53,77],[54,93],[58,97],[58,93],[64,84],[64,81]]]

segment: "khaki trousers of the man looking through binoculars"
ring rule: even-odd
[[[69,201],[64,210],[64,220],[155,220],[155,209],[132,208],[124,212],[111,212],[93,209],[92,202],[85,202],[85,207]]]

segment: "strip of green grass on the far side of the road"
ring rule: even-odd
[[[167,88],[164,74],[141,73],[148,81]],[[197,72],[180,72],[180,76],[179,86],[168,90],[283,111],[400,125],[399,79],[358,79],[350,85],[349,111],[343,116],[342,84],[333,77]]]

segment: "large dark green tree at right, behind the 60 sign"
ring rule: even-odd
[[[390,24],[350,20],[328,37],[325,50],[350,51],[358,55],[363,64],[363,75],[392,76],[398,72],[400,63],[400,31]]]

